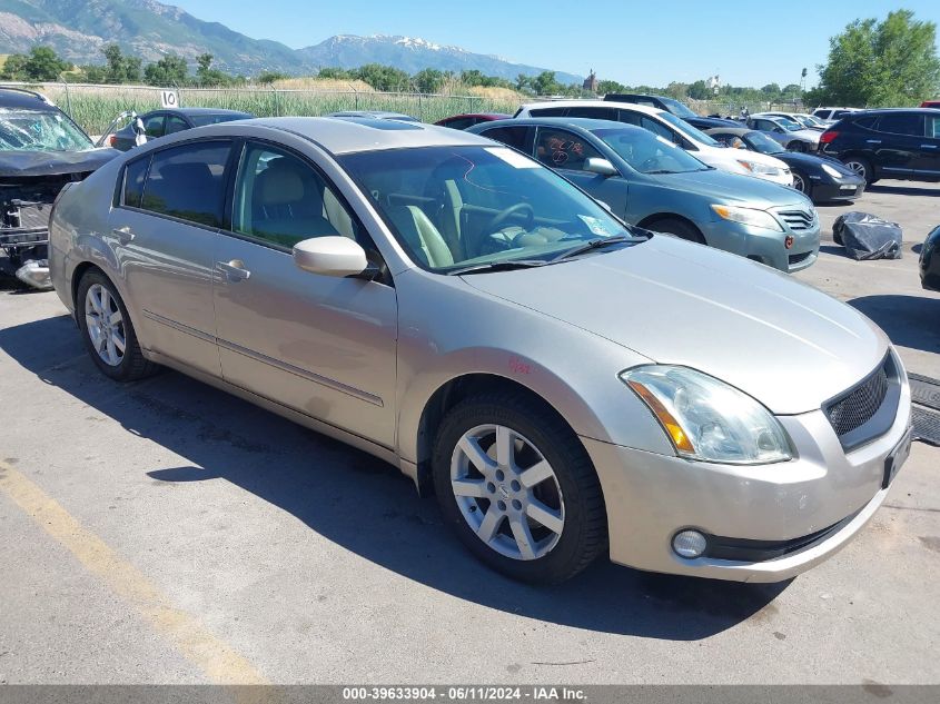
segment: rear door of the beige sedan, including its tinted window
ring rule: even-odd
[[[199,140],[128,162],[106,234],[149,349],[219,375],[212,246],[222,222],[231,141]]]

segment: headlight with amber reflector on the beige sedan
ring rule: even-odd
[[[766,408],[701,371],[652,365],[620,378],[650,407],[682,457],[758,465],[793,456],[786,433]]]

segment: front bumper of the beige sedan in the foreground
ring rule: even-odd
[[[885,460],[908,433],[910,387],[901,387],[891,428],[849,453],[822,410],[780,420],[799,456],[774,465],[689,462],[582,438],[604,492],[611,559],[651,572],[780,582],[841,549],[890,490],[882,486]],[[672,538],[686,528],[742,544],[798,547],[762,561],[684,559]]]

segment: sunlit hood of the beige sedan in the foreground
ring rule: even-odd
[[[874,369],[889,346],[863,315],[785,274],[663,235],[464,280],[653,361],[712,375],[778,415],[820,408]]]

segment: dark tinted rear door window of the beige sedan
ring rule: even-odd
[[[195,142],[156,152],[140,207],[207,227],[221,227],[230,145]]]

